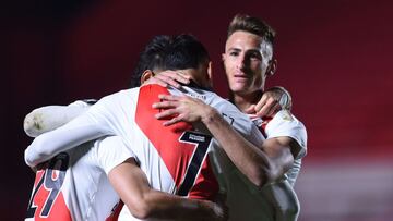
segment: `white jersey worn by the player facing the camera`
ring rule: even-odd
[[[301,158],[307,151],[307,133],[305,125],[288,111],[282,110],[273,119],[252,119],[266,138],[288,136],[297,140],[301,150],[294,165],[283,179],[258,188],[225,157],[222,164],[225,170],[222,176],[227,181],[229,220],[233,221],[288,221],[296,220],[299,201],[293,185],[300,171]],[[225,154],[218,151],[222,156]]]

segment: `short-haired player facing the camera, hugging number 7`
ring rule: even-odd
[[[180,121],[203,122],[229,157],[230,162],[222,161],[223,168],[227,169],[222,173],[225,177],[222,180],[228,181],[230,189],[229,220],[297,220],[299,214],[293,186],[307,151],[306,127],[288,111],[289,95],[282,97],[283,110],[273,119],[255,118],[265,102],[265,79],[274,74],[277,65],[273,57],[274,35],[263,21],[238,14],[228,27],[223,53],[230,101],[250,113],[259,125],[267,138],[262,145],[254,146],[239,137],[214,109],[196,99],[162,96],[163,102],[155,105],[170,109],[160,112],[158,119],[178,115],[166,125]]]

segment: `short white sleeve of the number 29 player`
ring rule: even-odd
[[[98,164],[108,174],[115,167],[129,158],[135,158],[119,136],[107,136],[95,144]]]

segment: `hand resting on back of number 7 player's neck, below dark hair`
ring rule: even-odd
[[[181,84],[190,84],[190,76],[180,71],[164,71],[155,74],[153,77],[143,82],[143,85],[158,84],[163,87],[169,85],[176,88],[181,88]]]

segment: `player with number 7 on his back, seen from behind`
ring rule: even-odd
[[[209,199],[214,196],[217,184],[212,176],[206,154],[210,145],[213,145],[212,149],[216,148],[215,140],[199,125],[180,123],[171,127],[159,127],[162,122],[154,118],[158,111],[151,107],[158,101],[158,94],[186,93],[198,97],[215,107],[248,140],[260,144],[263,137],[246,115],[228,101],[209,91],[209,56],[199,41],[191,36],[181,35],[175,38],[163,37],[158,46],[163,44],[163,39],[164,42],[165,39],[170,42],[170,50],[176,49],[178,53],[165,56],[164,67],[158,71],[182,70],[193,79],[190,86],[183,86],[180,91],[171,87],[166,89],[158,85],[147,85],[107,96],[64,126],[38,136],[25,151],[27,164],[35,167],[86,140],[114,134],[121,136],[136,156],[152,187],[192,198]],[[189,50],[180,50],[178,47]],[[155,58],[160,59],[159,56]],[[180,65],[178,62],[182,59],[191,65]],[[155,71],[153,69],[145,74],[152,75]],[[169,145],[167,148],[171,147],[171,151],[163,151],[165,145]]]

